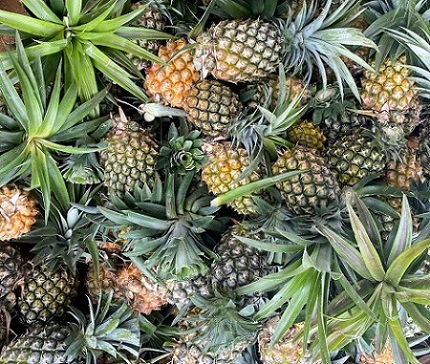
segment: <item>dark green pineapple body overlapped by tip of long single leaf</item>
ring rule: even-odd
[[[314,150],[296,146],[280,155],[272,166],[274,175],[303,170],[276,186],[286,206],[296,214],[314,214],[337,201],[340,187],[336,175]]]

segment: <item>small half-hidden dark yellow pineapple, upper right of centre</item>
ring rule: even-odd
[[[316,150],[323,150],[326,137],[319,126],[304,120],[295,123],[287,130],[287,139],[291,143],[303,145]]]

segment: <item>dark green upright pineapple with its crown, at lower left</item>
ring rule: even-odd
[[[48,220],[39,220],[20,239],[31,244],[33,253],[24,266],[17,302],[20,318],[28,325],[60,319],[78,293],[78,264],[91,244],[96,226],[72,203],[89,206],[95,192],[70,185],[69,193],[72,200],[53,199]]]

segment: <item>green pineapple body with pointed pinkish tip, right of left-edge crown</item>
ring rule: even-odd
[[[151,134],[135,121],[120,116],[112,120],[106,136],[107,148],[100,152],[104,184],[111,195],[122,195],[139,186],[152,185],[158,145]]]

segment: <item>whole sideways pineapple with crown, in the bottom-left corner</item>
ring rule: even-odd
[[[139,356],[139,320],[123,306],[89,306],[89,317],[75,307],[70,314],[76,322],[67,325],[49,323],[29,327],[4,346],[0,363],[4,364],[78,364],[99,363],[108,355],[122,362]]]

